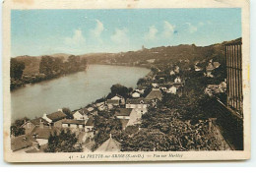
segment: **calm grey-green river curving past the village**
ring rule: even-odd
[[[12,120],[40,117],[62,107],[74,110],[86,106],[106,96],[114,84],[136,87],[149,72],[137,67],[90,65],[86,72],[16,89],[11,92]]]

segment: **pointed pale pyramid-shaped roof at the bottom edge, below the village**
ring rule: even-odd
[[[112,139],[111,135],[110,138],[105,141],[103,144],[96,148],[95,152],[118,152],[121,150],[121,144],[114,139]]]

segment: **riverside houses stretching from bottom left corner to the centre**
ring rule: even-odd
[[[113,109],[114,116],[120,119],[123,130],[127,126],[139,124],[142,115],[147,112],[147,107],[161,100],[162,97],[160,88],[157,87],[153,88],[145,98],[141,97],[140,94],[144,92],[144,89],[144,87],[138,87],[134,91],[133,97],[126,100],[116,94],[110,99],[75,110],[72,119],[68,119],[63,110],[58,109],[54,113],[43,114],[42,117],[26,121],[22,125],[25,135],[12,137],[11,149],[16,152],[43,152],[50,135],[59,134],[62,129],[70,129],[77,135],[78,144],[85,146],[84,150],[90,150],[90,146],[94,143],[94,117],[97,115],[97,111]],[[138,93],[139,96],[135,93]],[[112,143],[114,140],[110,139],[109,141]]]

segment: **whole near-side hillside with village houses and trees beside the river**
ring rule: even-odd
[[[222,49],[222,44],[212,47],[216,46]],[[133,62],[151,68],[151,72],[136,88],[113,85],[106,97],[81,109],[62,108],[32,120],[16,121],[11,127],[11,148],[27,153],[232,149],[211,111],[213,97],[225,100],[224,51],[217,52],[171,60],[150,56],[134,61],[136,57],[120,58],[122,53],[94,59],[95,63],[111,65]],[[155,54],[162,53],[169,56],[160,51]],[[72,140],[66,142],[69,146],[56,145],[56,139],[65,135]]]

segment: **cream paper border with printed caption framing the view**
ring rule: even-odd
[[[11,150],[11,10],[31,9],[161,9],[161,8],[241,8],[242,82],[244,114],[244,150],[230,151],[150,151],[103,153],[14,153]],[[80,162],[80,161],[171,161],[171,160],[243,160],[251,154],[250,140],[250,3],[249,0],[5,0],[3,2],[3,100],[4,159],[7,162]],[[109,157],[102,158],[110,155]],[[159,154],[160,157],[155,157]]]

